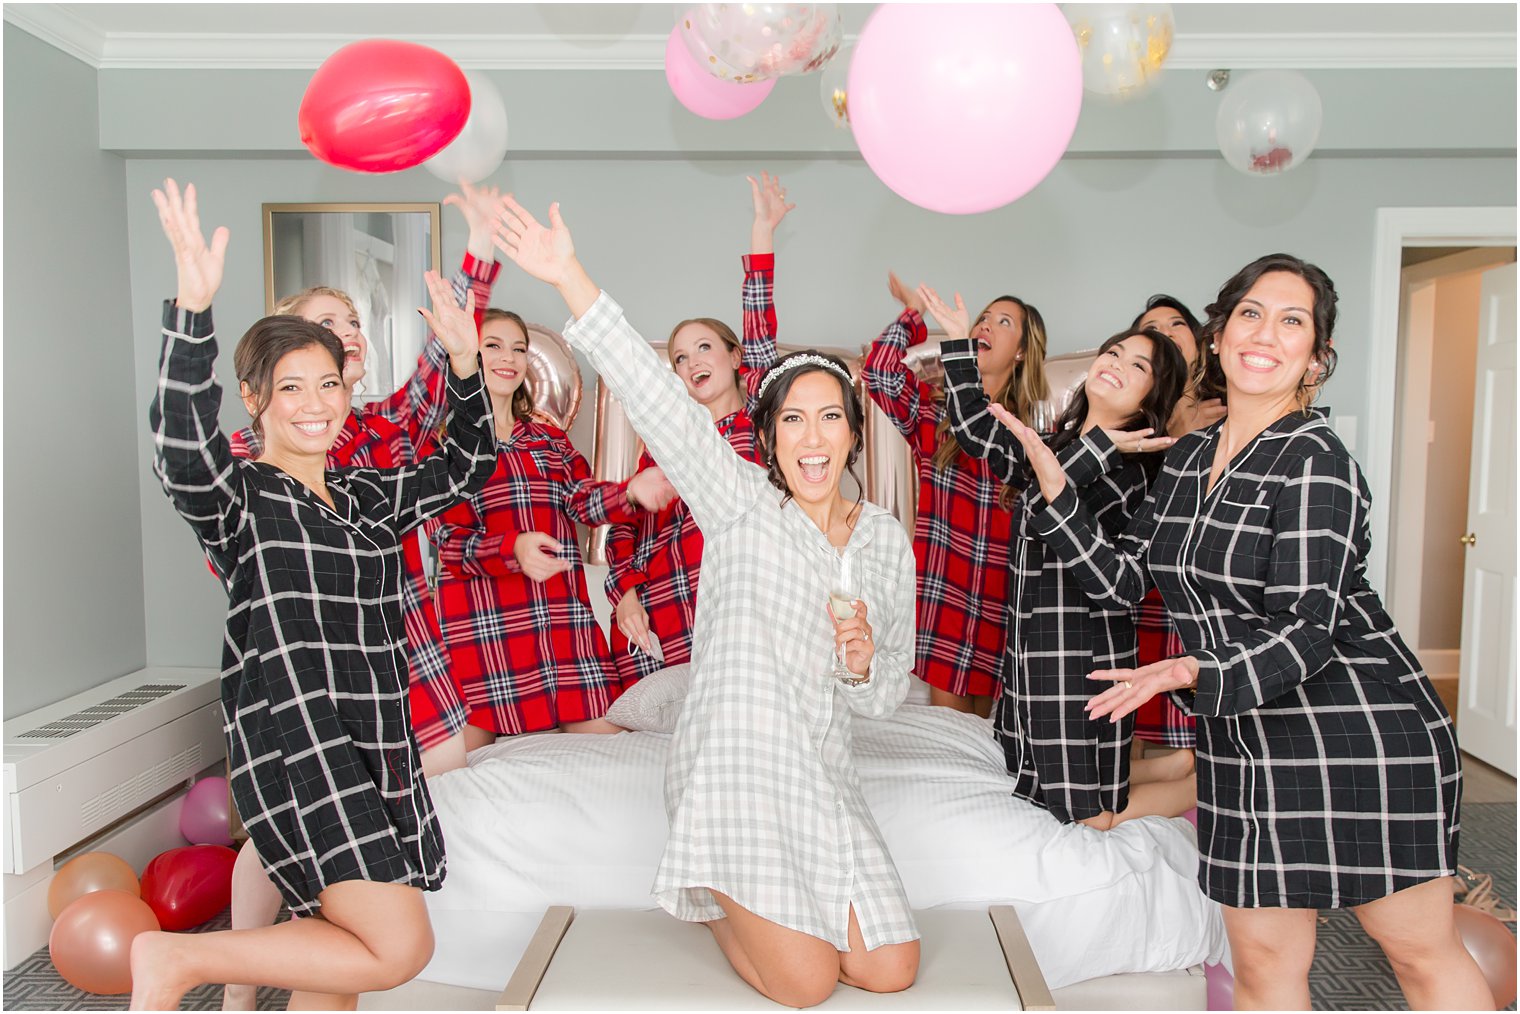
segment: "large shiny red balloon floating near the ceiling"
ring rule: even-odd
[[[470,82],[454,61],[416,43],[350,43],[316,68],[301,97],[301,143],[357,172],[418,166],[459,137]]]

